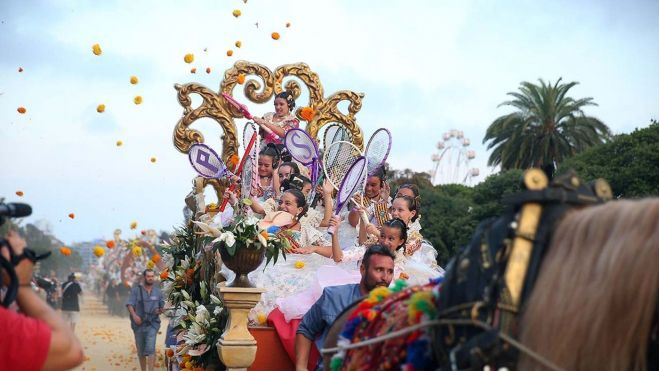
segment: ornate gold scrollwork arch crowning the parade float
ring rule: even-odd
[[[305,63],[286,64],[271,72],[261,64],[247,61],[237,61],[233,67],[225,71],[218,93],[195,83],[174,86],[178,92],[179,103],[183,106],[183,117],[174,129],[173,139],[176,149],[187,153],[192,144],[204,142],[202,133],[191,129],[190,126],[196,120],[206,117],[215,120],[222,127],[224,135],[221,138],[221,156],[223,160],[227,162],[232,155],[242,155],[242,153],[238,153],[238,130],[234,119],[243,118],[243,115],[221,95],[221,93],[233,95],[241,75],[255,77],[245,81],[243,93],[247,99],[259,104],[270,101],[274,95],[284,91],[283,86],[297,100],[301,96],[302,87],[296,79],[301,81],[309,92],[309,102],[306,106],[312,108],[316,113],[313,119],[307,123],[307,132],[313,138],[318,139],[318,132],[323,126],[338,122],[350,132],[353,144],[359,149],[363,149],[364,139],[355,115],[362,107],[364,94],[341,90],[325,98],[320,78]],[[201,96],[202,102],[199,107],[192,107],[191,94]],[[241,100],[240,97],[237,99]],[[339,103],[343,101],[348,102],[347,113],[341,112],[338,108]],[[303,105],[300,102],[296,103],[298,108],[295,115],[303,121],[300,116]],[[269,110],[264,109],[263,111]],[[218,199],[221,200],[224,187],[214,188],[218,192]]]

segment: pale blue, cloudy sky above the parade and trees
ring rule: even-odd
[[[67,244],[109,239],[115,228],[135,233],[133,221],[137,231],[171,231],[194,177],[172,144],[183,113],[173,86],[217,91],[237,60],[271,70],[304,62],[326,96],[364,93],[357,122],[366,138],[390,129],[394,169],[430,170],[442,134],[463,131],[476,158],[460,171],[479,168],[475,183],[497,171],[486,166],[482,139],[522,81],[578,81],[570,94],[593,97],[598,106],[586,113],[614,133],[658,118],[657,16],[652,0],[3,0],[0,197],[32,205],[24,222],[50,225]],[[194,63],[183,61],[187,53]],[[219,126],[193,127],[220,148]]]

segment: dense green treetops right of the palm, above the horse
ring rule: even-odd
[[[558,173],[569,169],[584,180],[604,178],[616,198],[659,195],[659,122],[574,156]]]

